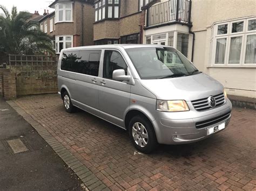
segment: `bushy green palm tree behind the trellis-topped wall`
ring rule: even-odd
[[[0,5],[4,16],[0,15],[0,53],[7,54],[42,54],[48,51],[55,54],[50,37],[39,30],[39,26],[28,23],[28,12],[17,12],[14,6],[11,13]]]

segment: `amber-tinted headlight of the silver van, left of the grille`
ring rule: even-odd
[[[185,100],[157,100],[157,110],[158,111],[189,111]]]

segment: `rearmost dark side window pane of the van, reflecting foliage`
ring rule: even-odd
[[[78,53],[78,51],[63,52],[60,68],[70,72],[77,72],[79,68],[78,61],[80,60]]]

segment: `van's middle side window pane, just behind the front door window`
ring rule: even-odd
[[[79,51],[80,69],[79,73],[92,76],[98,76],[99,74],[99,60],[102,51]]]

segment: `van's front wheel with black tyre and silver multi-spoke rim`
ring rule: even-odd
[[[129,135],[134,147],[143,153],[150,153],[158,146],[156,133],[149,119],[135,116],[129,123]]]

